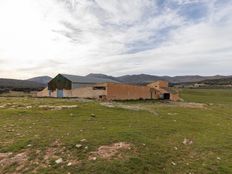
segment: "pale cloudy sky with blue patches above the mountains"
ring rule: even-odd
[[[1,0],[0,77],[231,75],[231,0]]]

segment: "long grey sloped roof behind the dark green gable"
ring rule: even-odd
[[[76,76],[76,75],[69,75],[69,74],[61,74],[68,80],[73,83],[119,83],[118,81],[112,79],[103,79],[103,78],[95,78],[95,77],[86,77],[86,76]]]

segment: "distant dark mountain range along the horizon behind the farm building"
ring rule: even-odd
[[[155,76],[149,74],[138,74],[138,75],[125,75],[125,76],[108,76],[105,74],[88,74],[86,77],[96,77],[111,79],[120,83],[127,84],[147,84],[156,80],[166,80],[173,84],[183,83],[197,83],[202,82],[206,84],[232,84],[232,76],[199,76],[199,75],[188,75],[188,76]],[[11,90],[40,90],[47,86],[47,83],[52,78],[49,76],[33,77],[27,80],[16,80],[16,79],[5,79],[0,78],[0,89],[11,89]]]

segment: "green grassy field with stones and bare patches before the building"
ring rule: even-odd
[[[232,90],[181,96],[185,102],[1,97],[0,173],[232,173]]]

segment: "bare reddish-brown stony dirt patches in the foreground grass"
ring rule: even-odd
[[[81,140],[80,143],[86,143]],[[30,147],[30,146],[28,146]],[[82,151],[85,151],[87,146],[76,146]],[[97,160],[98,158],[110,160],[113,158],[122,159],[126,150],[131,150],[132,145],[126,142],[119,142],[110,145],[100,146],[96,151],[89,152],[88,159]],[[28,166],[34,165],[33,173],[37,173],[38,169],[47,168],[51,163],[57,165],[76,166],[80,165],[83,159],[80,160],[72,154],[70,149],[65,147],[59,140],[53,142],[45,150],[32,150],[30,148],[20,153],[0,153],[0,173],[5,173],[5,170],[11,166],[15,166],[14,174],[20,174],[28,170]]]

